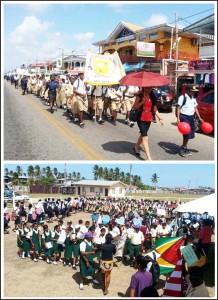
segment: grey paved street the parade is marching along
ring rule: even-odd
[[[152,123],[149,146],[153,160],[214,160],[214,137],[196,134],[189,143],[193,156],[178,154],[182,136],[175,115],[162,113],[165,125]],[[4,159],[5,160],[124,160],[145,161],[133,154],[139,130],[124,124],[118,114],[117,126],[103,125],[85,119],[81,129],[67,118],[63,109],[54,114],[34,95],[21,95],[21,90],[4,82]],[[141,149],[142,150],[142,149]]]

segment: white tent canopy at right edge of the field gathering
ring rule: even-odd
[[[217,199],[215,194],[204,196],[202,198],[181,204],[173,212],[196,212],[203,214],[208,212],[210,216],[217,214]]]

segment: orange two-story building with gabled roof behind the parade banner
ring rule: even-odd
[[[197,60],[199,34],[184,32],[178,28],[178,57],[176,55],[175,26],[164,23],[143,28],[127,22],[120,22],[105,40],[95,42],[99,53],[117,51],[121,62],[142,65],[146,71],[167,75],[171,85],[175,84],[176,58],[178,69],[190,60]],[[154,55],[143,56],[137,51],[140,42],[153,44]],[[178,75],[180,76],[180,75]]]

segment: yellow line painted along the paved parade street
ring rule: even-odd
[[[43,111],[42,108],[33,103],[30,99],[25,97],[26,101],[28,101],[36,110],[41,112],[46,119],[52,123],[67,139],[70,141],[77,149],[79,149],[89,160],[105,160],[103,156],[101,156],[98,152],[92,149],[86,142],[84,142],[81,138],[79,138],[75,133],[73,133],[70,129],[61,124],[60,121],[54,118],[47,111]]]

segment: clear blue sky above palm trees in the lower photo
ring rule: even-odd
[[[32,165],[33,167],[36,164],[28,163],[13,163],[13,164],[5,164],[5,168],[8,170],[15,171],[16,166],[19,165],[22,167],[23,172],[25,173],[27,167]],[[40,167],[50,166],[51,169],[57,167],[59,172],[64,172],[65,164],[64,163],[56,163],[50,164],[39,163]],[[67,173],[72,172],[80,172],[81,176],[86,179],[93,179],[93,167],[94,165],[98,165],[102,168],[113,168],[118,167],[120,171],[125,173],[130,171],[130,164],[126,163],[66,163]],[[215,166],[214,164],[132,164],[132,175],[141,176],[142,182],[144,184],[152,185],[151,177],[156,173],[159,177],[158,185],[159,186],[167,186],[167,187],[186,187],[195,188],[198,186],[206,186],[206,187],[215,187]]]

